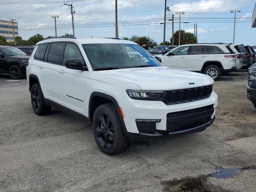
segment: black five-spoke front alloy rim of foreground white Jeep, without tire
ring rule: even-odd
[[[113,146],[115,140],[115,132],[110,116],[105,112],[101,112],[96,117],[96,135],[99,143],[106,149]]]

